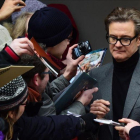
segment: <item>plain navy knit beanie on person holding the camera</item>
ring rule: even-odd
[[[28,37],[38,43],[53,47],[65,40],[72,32],[72,24],[68,16],[52,7],[44,7],[36,11],[28,25]]]

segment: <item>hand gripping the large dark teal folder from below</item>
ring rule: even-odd
[[[77,99],[77,101],[80,101],[84,106],[88,105],[90,103],[90,101],[93,98],[93,93],[97,92],[98,88],[92,88],[92,89],[88,89],[85,90],[81,96]]]

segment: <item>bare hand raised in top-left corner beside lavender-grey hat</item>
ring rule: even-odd
[[[24,6],[25,3],[22,0],[5,0],[0,9],[0,21],[9,18],[13,12],[20,11]]]

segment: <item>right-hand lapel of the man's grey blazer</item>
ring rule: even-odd
[[[131,110],[135,105],[135,102],[138,99],[139,94],[140,94],[140,60],[138,61],[138,64],[132,75],[132,79],[130,82],[130,86],[125,101],[123,117],[128,118]]]

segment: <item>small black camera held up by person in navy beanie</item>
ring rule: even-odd
[[[92,51],[89,41],[81,42],[76,48],[73,49],[73,54],[75,58],[80,57],[81,55],[86,55]]]

